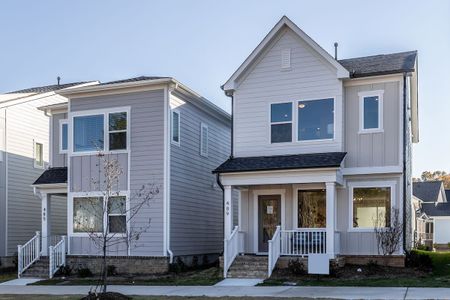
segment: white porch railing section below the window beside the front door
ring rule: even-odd
[[[326,228],[281,231],[281,255],[307,256],[327,252]]]

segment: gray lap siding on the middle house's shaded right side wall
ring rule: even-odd
[[[230,155],[230,127],[189,102],[180,111],[180,146],[171,144],[170,248],[174,255],[223,250],[223,194],[211,173]],[[200,124],[209,129],[208,157],[200,155]]]

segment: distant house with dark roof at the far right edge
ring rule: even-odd
[[[413,195],[417,199],[416,244],[448,250],[450,243],[449,190],[442,181],[413,183]]]

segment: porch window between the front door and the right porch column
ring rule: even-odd
[[[298,228],[325,228],[325,190],[298,191]]]

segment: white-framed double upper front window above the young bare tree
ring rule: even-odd
[[[73,117],[73,152],[128,149],[129,112],[115,110]]]

